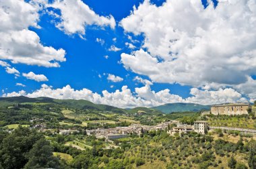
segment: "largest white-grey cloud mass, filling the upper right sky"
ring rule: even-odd
[[[235,11],[235,12],[234,12]],[[145,0],[119,23],[145,37],[143,49],[122,54],[125,68],[154,82],[236,85],[256,72],[256,2]]]

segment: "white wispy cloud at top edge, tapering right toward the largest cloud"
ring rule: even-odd
[[[59,16],[61,21],[57,27],[65,34],[86,34],[86,25],[110,26],[115,28],[115,19],[112,15],[108,17],[96,14],[88,5],[81,0],[56,0],[48,7],[61,10]]]

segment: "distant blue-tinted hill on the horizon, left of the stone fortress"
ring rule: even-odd
[[[168,103],[165,105],[160,105],[158,107],[152,107],[163,113],[172,113],[172,112],[185,112],[185,111],[209,111],[210,105],[199,105],[194,103]]]

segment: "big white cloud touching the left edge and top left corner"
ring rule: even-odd
[[[45,67],[59,67],[66,60],[65,50],[42,45],[39,36],[28,30],[40,28],[40,9],[33,1],[0,1],[0,59]]]

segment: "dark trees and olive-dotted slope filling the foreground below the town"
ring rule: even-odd
[[[115,140],[119,148],[104,149],[101,146],[104,142],[92,142],[91,149],[82,151],[64,146],[64,140],[72,135],[53,136],[50,144],[41,133],[19,127],[12,133],[0,132],[0,136],[0,168],[7,169],[137,168],[144,165],[148,168],[154,165],[162,168],[256,167],[256,142],[253,139],[241,138],[235,144],[223,139],[214,140],[210,135],[190,133],[171,137],[166,131],[152,131],[140,137]],[[72,137],[78,139],[78,135]],[[54,157],[53,152],[69,154],[73,160],[67,163]],[[224,164],[224,160],[228,160],[228,164]]]

